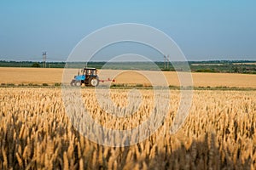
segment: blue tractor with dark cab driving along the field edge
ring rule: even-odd
[[[96,87],[99,85],[99,82],[96,68],[85,67],[84,70],[81,71],[81,75],[78,74],[73,78],[70,85],[80,87],[84,83],[85,86]]]

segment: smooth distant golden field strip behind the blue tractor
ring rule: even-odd
[[[78,70],[74,70],[74,75]],[[0,67],[0,84],[55,84],[61,82],[63,69],[56,68],[9,68]],[[169,85],[179,86],[176,72],[163,72]],[[74,76],[73,75],[73,76]],[[108,79],[111,75],[116,75],[115,82],[118,84],[143,84],[150,85],[148,79],[162,81],[157,71],[100,71],[101,79]],[[148,78],[147,78],[148,77]],[[239,87],[239,88],[256,88],[256,75],[247,74],[230,74],[230,73],[192,73],[195,87]],[[158,80],[160,79],[160,80]]]

